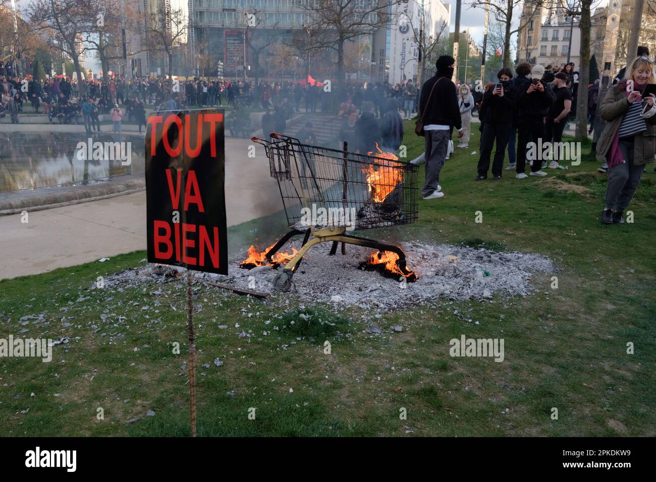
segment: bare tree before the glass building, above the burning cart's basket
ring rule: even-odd
[[[300,0],[308,12],[308,27],[316,35],[316,47],[337,51],[337,83],[344,81],[344,43],[359,35],[386,27],[387,11],[403,0]]]

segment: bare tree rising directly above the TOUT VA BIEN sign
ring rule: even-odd
[[[186,43],[189,18],[182,9],[171,9],[159,3],[154,12],[148,14],[145,27],[145,46],[150,52],[160,52],[167,59],[169,91],[173,85],[173,56],[176,49]]]

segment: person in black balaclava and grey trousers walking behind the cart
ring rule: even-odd
[[[419,116],[424,127],[426,158],[426,184],[421,190],[424,199],[436,199],[444,195],[438,182],[451,139],[451,129],[455,127],[458,130],[458,137],[464,135],[455,84],[451,81],[454,64],[453,57],[440,56],[435,64],[437,73],[424,82],[419,95]]]

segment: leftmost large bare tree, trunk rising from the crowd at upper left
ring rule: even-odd
[[[86,86],[79,58],[86,50],[83,37],[92,28],[92,9],[94,0],[35,0],[28,7],[34,30],[49,35],[49,45],[73,61],[81,96],[85,95]]]

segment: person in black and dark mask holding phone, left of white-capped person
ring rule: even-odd
[[[483,119],[483,134],[481,136],[481,157],[478,159],[478,176],[474,179],[476,181],[487,179],[490,154],[495,139],[497,140],[497,149],[492,163],[492,174],[495,180],[501,179],[503,158],[506,155],[506,146],[508,145],[508,134],[510,134],[512,127],[516,92],[515,88],[510,85],[512,71],[507,67],[502,68],[497,73],[497,78],[499,83],[493,85],[483,95],[485,119]]]

